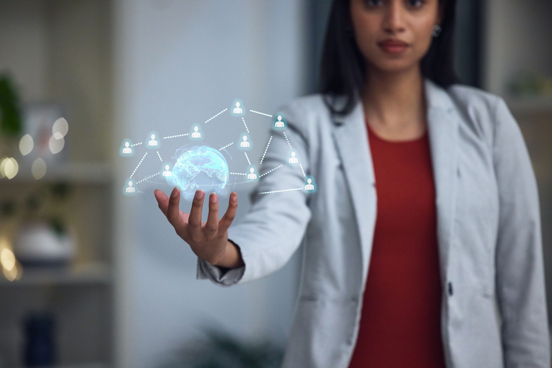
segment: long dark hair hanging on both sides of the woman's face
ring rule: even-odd
[[[333,0],[326,40],[322,50],[321,93],[335,114],[348,114],[354,108],[365,82],[365,61],[351,30],[351,0]],[[454,71],[454,19],[456,0],[439,0],[441,33],[433,38],[422,58],[422,75],[442,87],[459,83]],[[336,106],[336,97],[343,102]]]

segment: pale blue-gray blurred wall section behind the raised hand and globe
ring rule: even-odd
[[[150,130],[161,136],[184,134],[195,122],[202,124],[213,145],[226,145],[245,130],[241,119],[225,114],[207,124],[203,121],[230,108],[235,98],[243,100],[246,110],[272,114],[300,95],[307,79],[303,3],[116,1],[114,152],[125,137],[140,142]],[[258,163],[270,120],[252,113],[245,119],[254,144],[250,158]],[[162,140],[164,160],[186,142],[179,139]],[[244,168],[243,153],[230,148],[231,171]],[[121,185],[144,152],[137,150],[130,161],[116,159]],[[159,169],[155,155],[150,151],[136,178]],[[195,280],[196,258],[157,209],[157,188],[171,189],[144,182],[139,187],[143,195],[115,195],[118,366],[151,367],[208,322],[242,337],[267,336],[281,342],[293,313],[299,257],[266,279],[229,289]],[[236,189],[239,221],[252,186]],[[182,210],[188,207],[187,202],[181,205]]]

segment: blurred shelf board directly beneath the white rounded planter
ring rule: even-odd
[[[111,282],[110,268],[104,263],[91,263],[67,268],[24,267],[19,280],[0,278],[0,286],[87,286],[108,285]]]

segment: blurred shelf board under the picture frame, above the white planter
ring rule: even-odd
[[[17,159],[17,158],[16,158]],[[19,172],[13,179],[0,179],[2,183],[24,183],[24,182],[71,182],[78,184],[110,184],[113,180],[111,168],[105,163],[82,162],[82,163],[46,163],[46,175],[36,180],[31,175],[28,165],[22,164]]]

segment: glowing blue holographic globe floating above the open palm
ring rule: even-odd
[[[219,150],[209,146],[194,146],[177,152],[177,161],[172,175],[166,177],[171,186],[178,186],[181,196],[187,200],[194,198],[195,191],[205,193],[225,193],[228,183],[228,164]]]

